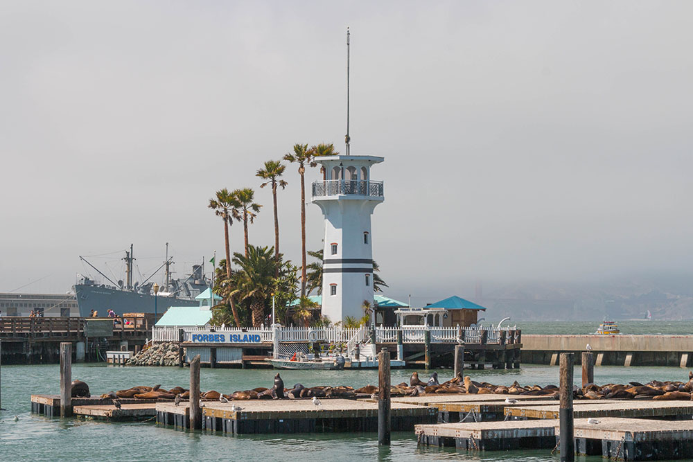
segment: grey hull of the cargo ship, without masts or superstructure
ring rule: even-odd
[[[124,290],[99,287],[98,285],[75,285],[75,296],[81,317],[89,317],[91,310],[98,311],[99,317],[105,317],[108,310],[116,315],[124,313],[164,314],[172,306],[198,306],[190,299],[178,299],[172,296],[153,296],[126,292]]]

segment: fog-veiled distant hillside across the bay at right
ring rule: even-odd
[[[489,309],[487,317],[509,316],[526,321],[693,319],[690,285],[653,281],[618,281],[599,285],[524,283],[483,294],[476,303]]]

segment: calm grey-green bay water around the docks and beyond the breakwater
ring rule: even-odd
[[[636,323],[639,321],[635,321]],[[532,324],[533,326],[529,326]],[[553,323],[558,324],[558,323]],[[565,329],[575,329],[575,325]],[[585,329],[590,323],[584,323]],[[620,324],[621,325],[621,324]],[[675,330],[660,323],[650,323],[656,330]],[[693,323],[689,323],[693,325]],[[625,330],[626,322],[622,323]],[[521,323],[523,332],[542,332],[539,323]],[[546,326],[545,326],[546,327]],[[551,330],[562,330],[550,326]],[[590,327],[587,332],[592,328]],[[559,332],[555,332],[559,333]],[[568,332],[565,332],[568,333]],[[579,333],[579,332],[575,332]],[[648,332],[650,333],[650,332]],[[687,333],[687,332],[669,332]],[[393,371],[393,383],[406,382],[412,371]],[[558,368],[550,366],[523,366],[516,371],[470,371],[475,380],[497,384],[557,384]],[[419,371],[421,375],[426,375]],[[438,371],[445,380],[449,370]],[[128,367],[76,364],[73,378],[89,384],[91,393],[98,395],[110,390],[126,389],[133,385],[162,384],[164,388],[186,386],[188,369],[174,367]],[[347,384],[361,387],[377,383],[377,371],[283,371],[287,386],[301,382],[306,386],[317,384]],[[58,365],[3,366],[1,375],[2,406],[0,411],[0,459],[5,460],[112,460],[112,461],[161,461],[161,460],[270,460],[291,461],[299,457],[306,461],[426,461],[474,460],[474,461],[558,461],[547,450],[521,452],[486,452],[466,454],[450,448],[417,448],[413,432],[393,434],[392,446],[378,448],[376,434],[316,434],[286,436],[220,436],[203,432],[176,432],[157,427],[155,423],[103,423],[95,420],[48,419],[30,414],[31,393],[58,394]],[[225,393],[270,387],[274,377],[271,370],[207,369],[201,373],[201,388],[216,389]],[[579,377],[576,369],[575,377]],[[595,368],[595,381],[629,382],[660,380],[685,380],[687,371],[681,368]],[[19,416],[19,421],[13,420]],[[602,461],[601,457],[584,458],[586,461]]]

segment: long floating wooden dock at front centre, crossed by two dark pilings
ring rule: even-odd
[[[315,432],[376,432],[378,405],[344,399],[253,400],[209,402],[202,408],[202,428],[226,434],[282,434]],[[232,405],[242,409],[231,411]],[[157,423],[179,429],[190,427],[188,403],[158,403]],[[412,430],[437,421],[435,407],[392,403],[392,430]]]

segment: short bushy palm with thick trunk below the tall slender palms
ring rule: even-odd
[[[229,294],[232,299],[249,303],[253,327],[260,327],[265,319],[267,300],[272,299],[272,292],[277,287],[277,260],[274,259],[272,247],[249,246],[247,256],[236,252],[234,263],[238,271],[231,278],[234,290]]]

